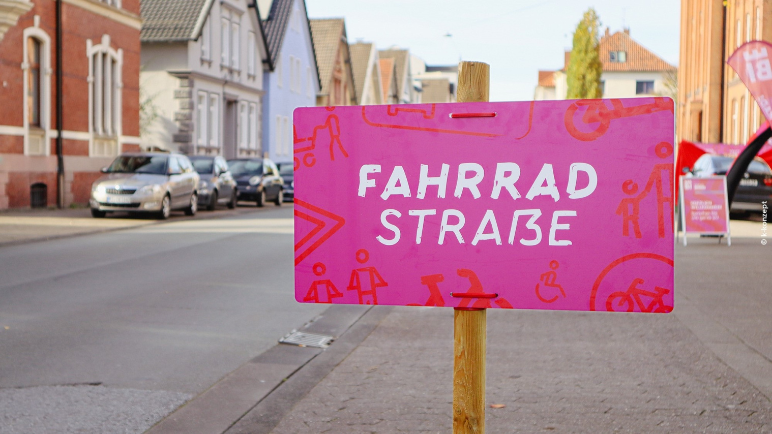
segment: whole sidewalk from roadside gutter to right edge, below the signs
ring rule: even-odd
[[[487,432],[772,432],[772,246],[736,223],[677,247],[673,314],[489,311]],[[452,310],[379,310],[302,399],[283,389],[321,356],[227,432],[451,432]]]

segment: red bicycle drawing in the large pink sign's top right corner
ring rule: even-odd
[[[591,123],[598,123],[592,131],[580,131],[577,128],[576,119],[574,115],[580,109],[580,107],[586,107],[584,114],[581,116],[581,123],[585,125]],[[656,97],[654,103],[643,104],[641,106],[625,107],[622,105],[621,99],[611,99],[611,109],[606,106],[605,99],[580,99],[577,102],[571,104],[566,110],[566,116],[564,122],[566,124],[566,130],[571,136],[574,136],[578,140],[584,142],[591,142],[603,136],[608,127],[611,126],[613,119],[621,119],[631,116],[648,115],[655,112],[673,111],[672,101],[662,96]],[[590,127],[590,126],[588,126]],[[591,127],[590,127],[591,128]]]

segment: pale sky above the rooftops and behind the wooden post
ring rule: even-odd
[[[564,50],[588,8],[601,35],[630,29],[639,44],[677,66],[677,0],[306,0],[310,18],[346,19],[350,43],[397,45],[428,65],[459,59],[490,65],[491,101],[533,99],[540,69],[563,67]]]

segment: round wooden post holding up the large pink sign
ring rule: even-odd
[[[489,66],[459,62],[456,101],[489,99]],[[453,434],[485,432],[485,309],[456,308],[453,312]]]

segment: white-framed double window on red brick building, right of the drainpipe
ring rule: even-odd
[[[99,45],[86,39],[89,62],[89,134],[90,156],[115,156],[120,152],[123,93],[124,50],[110,47],[110,35],[102,35]],[[114,70],[103,62],[115,62]]]

